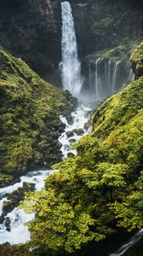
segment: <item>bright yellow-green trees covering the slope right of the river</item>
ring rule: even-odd
[[[31,246],[72,253],[89,241],[143,225],[143,77],[93,115],[93,131],[22,207],[37,212]],[[63,255],[63,254],[62,254]]]

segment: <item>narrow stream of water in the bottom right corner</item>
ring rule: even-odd
[[[143,229],[139,230],[130,240],[125,243],[122,247],[120,247],[116,253],[112,253],[109,256],[121,256],[123,253],[128,251],[129,247],[132,247],[137,241],[140,241],[143,236]]]

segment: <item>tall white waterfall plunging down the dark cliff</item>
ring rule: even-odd
[[[62,38],[60,63],[61,80],[64,90],[70,90],[73,96],[78,96],[82,88],[81,63],[77,55],[77,39],[70,3],[61,3]]]

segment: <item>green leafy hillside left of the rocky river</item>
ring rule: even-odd
[[[58,116],[72,111],[73,102],[67,92],[0,48],[0,185],[31,166],[60,160],[56,140],[63,127]]]

